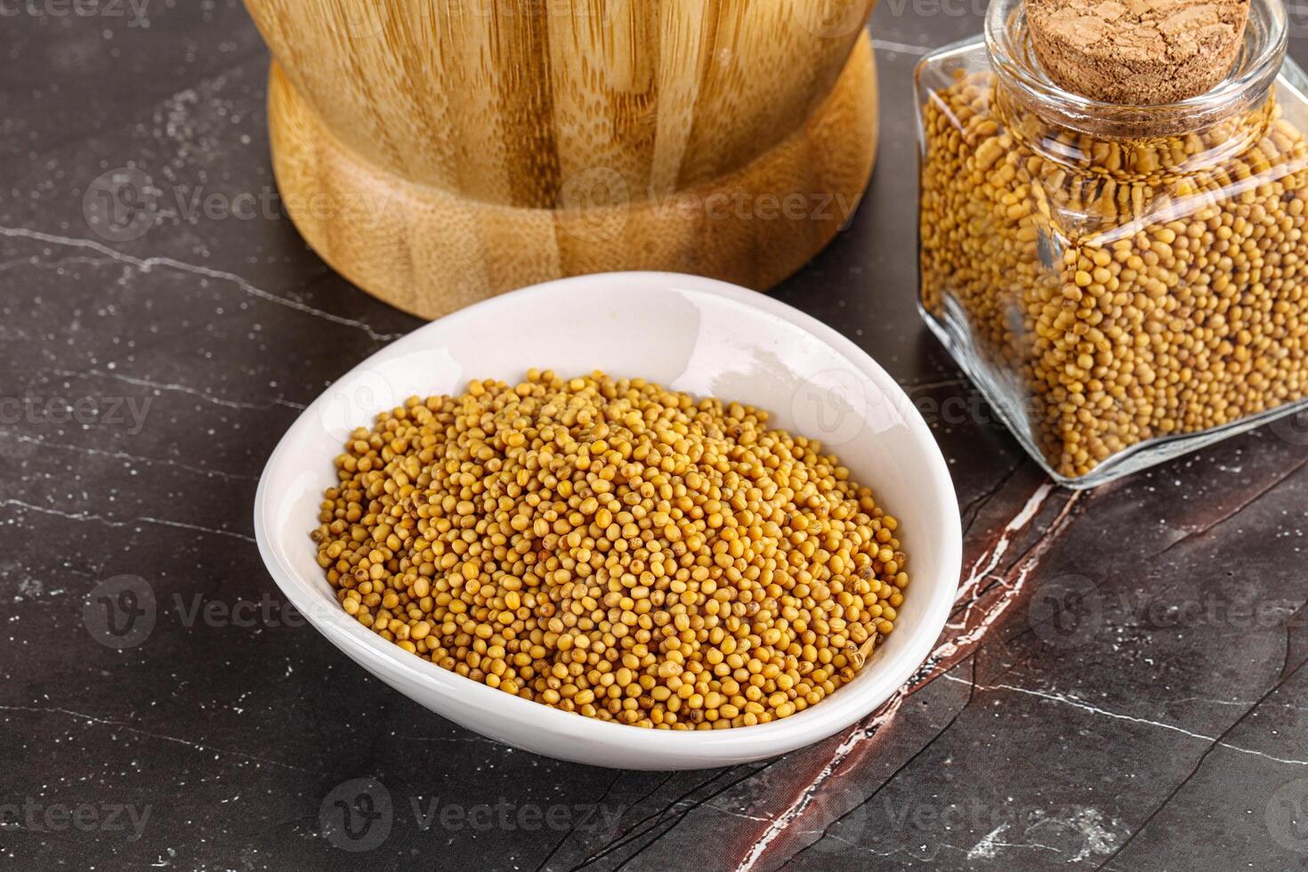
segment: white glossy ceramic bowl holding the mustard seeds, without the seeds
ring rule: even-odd
[[[785,720],[680,732],[606,723],[511,697],[408,654],[337,605],[309,539],[345,434],[411,395],[538,366],[602,369],[769,409],[821,439],[900,519],[912,584],[895,631],[858,677]],[[292,425],[255,497],[255,532],[292,604],[365,669],[468,729],[549,757],[623,769],[704,769],[773,757],[859,720],[931,651],[957,590],[954,485],[908,396],[836,331],[760,293],[668,273],[611,273],[496,297],[433,322],[343,377]]]

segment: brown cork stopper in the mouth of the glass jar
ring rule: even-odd
[[[1031,42],[1063,90],[1151,106],[1196,97],[1231,71],[1249,0],[1025,0]]]

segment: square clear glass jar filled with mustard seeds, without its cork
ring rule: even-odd
[[[1088,488],[1308,403],[1308,81],[1253,0],[1213,90],[1041,71],[1022,0],[917,68],[921,306],[1027,450]]]

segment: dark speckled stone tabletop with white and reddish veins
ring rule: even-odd
[[[913,305],[912,69],[980,4],[874,25],[869,199],[777,295],[920,400],[967,584],[857,729],[664,774],[484,740],[285,611],[251,539],[263,461],[417,322],[280,210],[238,3],[0,3],[0,864],[1308,868],[1308,420],[1050,488]],[[157,222],[105,224],[140,197]]]

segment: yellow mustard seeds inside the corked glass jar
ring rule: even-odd
[[[1308,397],[1301,118],[1126,141],[1010,102],[960,71],[923,106],[922,305],[1020,377],[1054,471]]]

